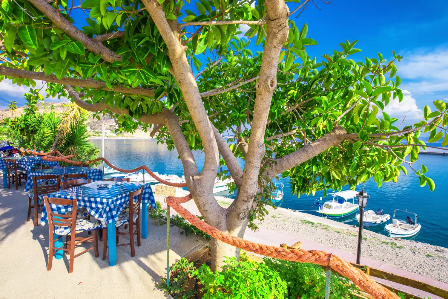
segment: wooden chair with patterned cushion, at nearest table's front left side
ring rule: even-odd
[[[66,251],[67,254],[70,256],[69,259],[69,273],[73,273],[73,261],[74,258],[77,256],[82,255],[83,253],[94,249],[95,251],[95,257],[99,257],[99,251],[98,251],[98,234],[97,230],[99,227],[98,221],[90,221],[87,219],[77,219],[77,200],[76,199],[61,199],[61,198],[48,198],[48,196],[45,196],[45,208],[47,209],[47,215],[48,215],[48,228],[50,232],[50,251],[48,254],[48,265],[47,265],[47,271],[50,271],[52,269],[52,262],[53,262],[53,255],[54,251],[63,250]],[[72,214],[57,214],[53,213],[50,208],[50,204],[57,204],[57,205],[71,205],[73,210]],[[76,233],[80,233],[82,231],[92,231],[93,235],[87,238],[83,237],[77,237]],[[55,235],[58,237],[56,240],[59,240],[60,238],[63,238],[66,236],[66,248],[64,248],[64,245],[62,247],[54,247]],[[90,247],[89,249],[86,249],[78,254],[75,255],[75,246],[82,242],[92,242],[93,247]]]

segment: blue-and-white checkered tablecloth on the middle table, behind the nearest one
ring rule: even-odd
[[[92,182],[100,181],[103,179],[103,170],[99,168],[88,168],[88,167],[74,167],[67,166],[64,168],[55,168],[55,169],[40,169],[28,171],[28,176],[25,185],[25,192],[33,190],[33,177],[41,176],[41,175],[61,175],[61,180],[64,181],[63,174],[73,174],[79,173],[84,174],[87,173],[87,178],[91,179]]]

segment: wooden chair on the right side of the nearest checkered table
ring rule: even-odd
[[[118,220],[115,221],[116,226],[116,246],[131,246],[131,256],[135,256],[134,248],[134,235],[137,234],[137,246],[140,246],[140,203],[142,202],[143,187],[134,192],[129,193],[129,211],[122,211],[118,216]],[[138,195],[137,202],[134,202],[134,196]],[[112,223],[109,223],[111,225]],[[121,225],[129,225],[129,232],[120,232]],[[136,225],[136,230],[134,230],[134,225]],[[108,251],[108,229],[107,225],[103,226],[103,260],[106,260],[106,252]],[[118,244],[118,240],[121,235],[129,234],[129,243]]]

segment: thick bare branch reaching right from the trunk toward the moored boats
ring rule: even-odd
[[[345,133],[346,131],[342,126],[335,126],[333,130],[314,142],[308,143],[306,147],[301,147],[295,152],[275,159],[271,169],[267,170],[267,177],[270,179],[275,178],[277,174],[300,165],[321,152],[325,152],[330,147],[338,145],[346,139]]]

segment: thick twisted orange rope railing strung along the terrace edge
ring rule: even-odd
[[[174,186],[174,187],[185,187],[187,186],[186,183],[172,183],[165,181],[159,177],[157,177],[150,169],[148,169],[145,165],[139,166],[134,169],[121,169],[110,163],[108,160],[106,160],[103,157],[81,162],[81,161],[73,161],[69,160],[67,158],[70,158],[71,156],[64,156],[58,151],[53,151],[49,153],[39,153],[34,151],[30,151],[26,149],[25,151],[22,150],[22,152],[27,152],[30,154],[37,154],[42,156],[42,160],[47,161],[61,161],[65,163],[70,163],[73,165],[79,165],[79,164],[92,164],[98,161],[104,161],[107,165],[109,165],[111,168],[116,169],[120,172],[125,173],[131,173],[136,172],[141,169],[145,169],[147,173],[151,175],[155,180],[158,182],[168,185],[168,186]],[[57,153],[58,157],[51,156],[51,154]],[[375,299],[399,299],[396,294],[391,292],[390,290],[386,289],[385,287],[379,285],[375,280],[373,280],[369,275],[362,272],[360,269],[357,269],[353,267],[352,264],[350,264],[348,261],[340,258],[339,256],[332,255],[331,253],[327,253],[324,251],[319,250],[304,250],[304,249],[288,249],[284,247],[276,247],[276,246],[269,246],[261,243],[255,243],[249,240],[244,240],[242,238],[239,238],[237,236],[233,236],[231,234],[225,233],[223,231],[220,231],[216,229],[215,227],[208,225],[204,221],[200,220],[198,217],[191,214],[187,209],[183,208],[181,204],[188,202],[190,199],[192,199],[193,196],[191,194],[186,195],[184,197],[174,197],[174,196],[168,196],[166,198],[167,204],[172,207],[179,215],[184,217],[187,221],[189,221],[192,225],[197,227],[199,230],[202,230],[203,232],[209,234],[211,237],[216,238],[220,240],[221,242],[227,243],[229,245],[232,245],[233,247],[240,248],[245,251],[249,251],[255,254],[259,254],[262,256],[269,256],[274,259],[279,260],[289,260],[293,262],[301,262],[301,263],[312,263],[312,264],[318,264],[321,266],[329,266],[333,270],[335,270],[337,273],[340,273],[342,276],[345,276],[349,278],[356,286],[358,286],[361,290],[366,291],[369,293],[373,298]]]

